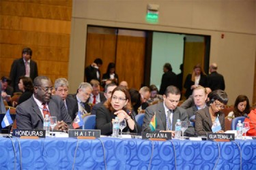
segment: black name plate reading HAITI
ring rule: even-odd
[[[68,137],[100,137],[100,130],[70,129]]]

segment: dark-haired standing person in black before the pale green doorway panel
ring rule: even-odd
[[[159,90],[160,95],[163,95],[165,93],[165,89],[168,86],[177,86],[177,76],[175,73],[173,73],[171,64],[165,63],[163,70],[165,73],[162,75],[162,81]]]

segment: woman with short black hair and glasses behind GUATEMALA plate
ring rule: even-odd
[[[214,90],[208,97],[208,107],[200,109],[195,114],[195,132],[199,136],[225,131],[225,114],[222,110],[229,100],[227,93],[223,90]]]

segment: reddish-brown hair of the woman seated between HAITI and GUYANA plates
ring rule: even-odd
[[[111,100],[112,100],[112,97],[113,97],[113,94],[115,91],[122,91],[124,92],[124,95],[126,95],[126,100],[128,100],[128,103],[126,104],[126,107],[124,107],[123,109],[126,111],[126,110],[131,110],[132,109],[132,106],[131,106],[131,103],[130,103],[130,94],[128,92],[128,90],[122,86],[117,86],[117,88],[115,88],[111,94],[111,97],[104,103],[104,106],[106,108],[108,108],[111,112],[114,111],[114,108],[112,107],[111,105]]]

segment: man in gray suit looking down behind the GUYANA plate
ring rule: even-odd
[[[186,110],[181,107],[177,107],[180,101],[180,90],[175,86],[168,86],[165,90],[165,94],[162,96],[164,101],[156,105],[151,105],[145,109],[145,116],[143,119],[142,131],[151,132],[150,121],[154,114],[156,114],[156,131],[155,132],[171,132],[175,134],[175,124],[177,119],[180,121],[188,122],[188,129],[186,129],[184,135],[195,135],[195,129],[191,126],[188,120],[188,114]],[[168,120],[168,121],[167,121]]]

